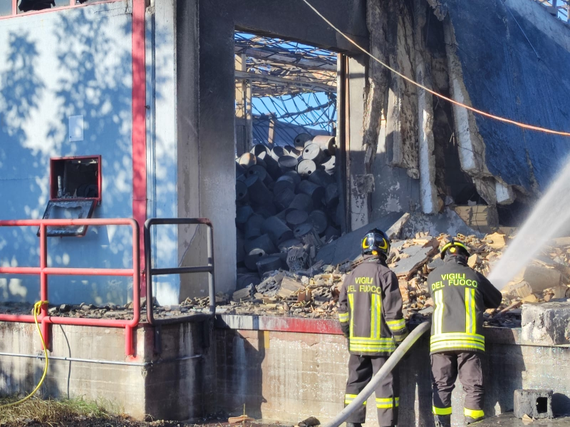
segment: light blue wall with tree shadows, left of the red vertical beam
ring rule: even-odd
[[[131,14],[125,1],[0,21],[0,218],[41,218],[49,158],[102,155],[103,202],[94,217],[132,217]],[[70,142],[68,118],[83,115]],[[132,265],[126,227],[90,227],[86,237],[48,239],[52,267]],[[0,230],[2,265],[38,266],[36,229]],[[117,277],[53,277],[50,302],[124,304]],[[38,277],[0,278],[4,300],[34,302]]]

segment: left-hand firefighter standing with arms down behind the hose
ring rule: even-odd
[[[363,262],[346,276],[338,299],[338,318],[348,338],[348,381],[345,406],[358,396],[390,354],[408,335],[402,316],[398,278],[386,266],[390,240],[375,228],[362,240]],[[398,371],[394,369],[375,390],[378,423],[398,423]],[[361,427],[366,421],[366,402],[354,411],[347,426]]]

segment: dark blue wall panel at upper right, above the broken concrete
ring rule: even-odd
[[[540,28],[502,0],[447,1],[472,106],[568,131],[570,52],[555,40],[569,40],[564,31],[570,30],[534,1],[511,4],[534,8],[529,11],[542,19]],[[476,120],[487,167],[508,184],[532,190],[536,183],[543,191],[570,152],[570,138],[522,130],[479,115]]]

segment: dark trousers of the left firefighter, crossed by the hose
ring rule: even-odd
[[[346,381],[346,394],[344,405],[348,405],[358,396],[370,382],[372,376],[388,360],[388,356],[356,356],[351,354],[348,359],[348,381]],[[378,425],[380,427],[393,427],[398,423],[398,403],[400,401],[400,376],[398,366],[388,373],[376,387],[376,408],[378,410]],[[366,422],[366,402],[356,409],[346,420],[347,423]]]

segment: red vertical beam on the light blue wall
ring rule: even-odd
[[[147,220],[147,142],[145,0],[133,0],[133,218],[140,230]],[[140,233],[140,269],[145,269],[144,233]],[[141,292],[145,280],[141,278]]]

